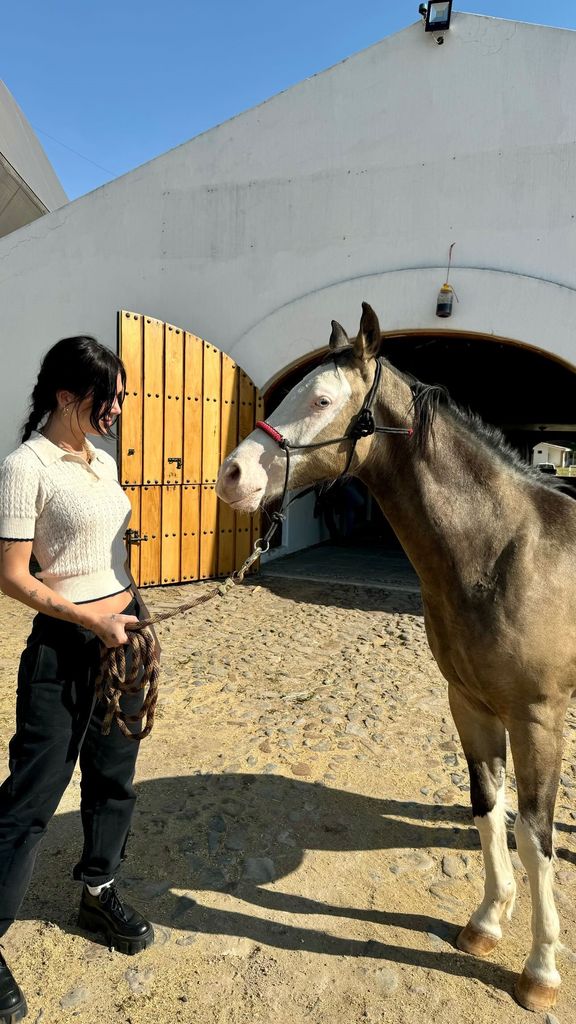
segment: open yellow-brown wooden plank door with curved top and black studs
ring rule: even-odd
[[[210,342],[141,313],[119,314],[126,366],[120,481],[132,505],[138,586],[208,580],[241,565],[259,530],[218,502],[218,466],[262,415],[250,378]]]

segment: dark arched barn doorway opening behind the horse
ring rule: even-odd
[[[499,427],[521,456],[532,462],[532,452],[543,439],[573,449],[576,460],[576,371],[548,354],[512,341],[453,332],[398,333],[384,338],[382,352],[400,370],[430,384],[443,384],[458,404],[471,409],[487,423]],[[277,379],[264,396],[266,415],[323,358],[310,356]],[[572,460],[571,460],[572,461]],[[567,480],[567,485],[570,485]],[[576,484],[576,479],[574,479]],[[360,498],[359,498],[360,495]],[[363,501],[361,500],[363,499]],[[291,552],[339,534],[396,549],[398,542],[379,509],[362,485],[349,494],[335,490],[322,500],[324,515],[317,518],[311,537],[298,524],[289,526],[283,551]],[[317,506],[318,512],[318,506]],[[303,542],[303,543],[302,543]]]

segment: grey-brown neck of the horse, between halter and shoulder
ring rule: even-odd
[[[396,378],[396,375],[394,375]],[[406,423],[410,392],[385,383],[376,410],[380,424]],[[443,411],[420,456],[416,438],[377,435],[359,471],[422,583],[474,581],[493,564],[520,521],[515,471]],[[516,512],[515,512],[516,508]]]

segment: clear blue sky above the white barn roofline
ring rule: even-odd
[[[574,0],[454,9],[576,29]],[[75,199],[417,19],[418,0],[18,0],[1,77]]]

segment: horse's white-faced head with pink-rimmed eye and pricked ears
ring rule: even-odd
[[[332,321],[329,357],[297,384],[269,417],[290,444],[313,444],[343,437],[362,409],[374,378],[380,328],[374,310],[364,302],[360,330],[349,340]],[[358,442],[362,458],[370,438]],[[346,467],[352,441],[291,456],[290,487],[335,479]],[[241,512],[255,512],[264,499],[281,494],[286,455],[261,428],[243,440],[220,466],[216,493]]]

